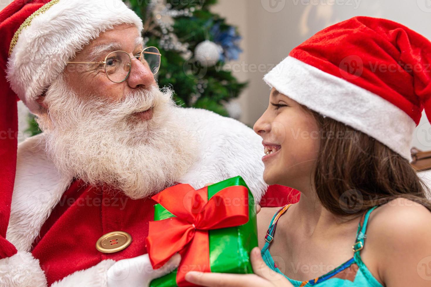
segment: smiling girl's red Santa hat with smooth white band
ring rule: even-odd
[[[431,43],[393,21],[354,17],[294,48],[265,75],[280,93],[411,160],[422,110],[431,119]]]

